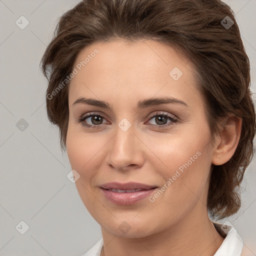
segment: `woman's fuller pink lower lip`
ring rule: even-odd
[[[113,192],[104,188],[101,188],[105,197],[113,203],[121,204],[121,205],[129,205],[139,202],[149,196],[156,188],[151,188],[147,190],[141,190],[137,192],[130,193],[118,193]]]

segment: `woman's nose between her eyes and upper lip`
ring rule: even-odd
[[[112,168],[124,171],[143,165],[143,143],[134,132],[134,125],[126,131],[116,127],[116,133],[108,143],[106,157],[107,164]]]

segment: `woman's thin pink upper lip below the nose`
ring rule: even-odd
[[[122,190],[132,190],[132,189],[151,189],[155,188],[155,185],[147,185],[138,182],[127,182],[127,183],[119,183],[119,182],[109,182],[100,185],[100,187],[104,189],[122,189]]]

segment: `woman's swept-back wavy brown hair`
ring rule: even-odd
[[[81,49],[114,38],[154,39],[190,59],[213,140],[221,117],[231,112],[242,118],[234,154],[226,163],[212,165],[207,198],[212,217],[237,212],[238,188],[254,155],[255,111],[249,60],[230,7],[220,0],[83,0],[64,13],[41,59],[48,79],[47,115],[59,127],[61,150],[66,142],[69,83],[54,96],[52,92],[72,72]]]

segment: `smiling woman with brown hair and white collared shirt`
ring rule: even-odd
[[[84,0],[43,58],[49,120],[100,224],[89,255],[245,255],[249,60],[219,0]],[[210,216],[209,216],[210,215]]]

